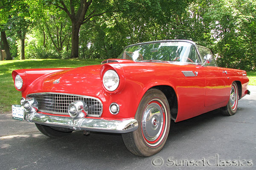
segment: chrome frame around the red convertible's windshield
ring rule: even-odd
[[[154,43],[161,43],[161,42],[189,42],[190,44],[192,44],[192,46],[195,48],[195,51],[197,53],[198,59],[200,60],[200,62],[180,62],[180,63],[185,63],[185,64],[194,64],[194,65],[202,65],[203,64],[203,60],[201,58],[201,55],[198,51],[197,45],[195,44],[195,42],[191,41],[191,40],[160,40],[160,41],[149,41],[149,42],[140,42],[137,44],[133,44],[133,45],[128,45],[124,48],[124,50],[122,51],[122,54],[125,52],[125,50],[127,48],[133,47],[133,46],[137,46],[137,45],[145,45],[145,44],[154,44]],[[123,57],[123,56],[122,56]],[[122,58],[123,59],[123,58]],[[146,61],[146,60],[145,60]],[[134,61],[134,62],[139,62],[139,61]],[[141,61],[140,61],[141,62]],[[163,61],[163,62],[172,62],[172,61]],[[176,62],[176,61],[174,61]]]

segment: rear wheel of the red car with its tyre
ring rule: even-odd
[[[236,82],[232,83],[231,90],[230,90],[230,99],[227,103],[227,106],[221,108],[221,113],[224,116],[232,116],[236,113],[237,105],[238,105],[238,88]]]

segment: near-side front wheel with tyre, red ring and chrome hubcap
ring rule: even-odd
[[[166,142],[171,120],[169,104],[163,92],[148,90],[140,101],[135,119],[138,129],[122,134],[127,149],[138,156],[159,152]]]

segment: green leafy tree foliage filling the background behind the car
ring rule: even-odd
[[[84,18],[79,0],[2,0],[0,7],[13,57],[17,30],[25,30],[26,58],[69,58],[72,28],[82,23],[80,58],[116,58],[137,42],[186,39],[210,48],[221,67],[256,70],[255,0],[92,0]]]

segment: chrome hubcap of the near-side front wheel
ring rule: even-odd
[[[163,129],[163,111],[160,105],[150,103],[144,110],[142,118],[142,131],[146,140],[156,140]]]

